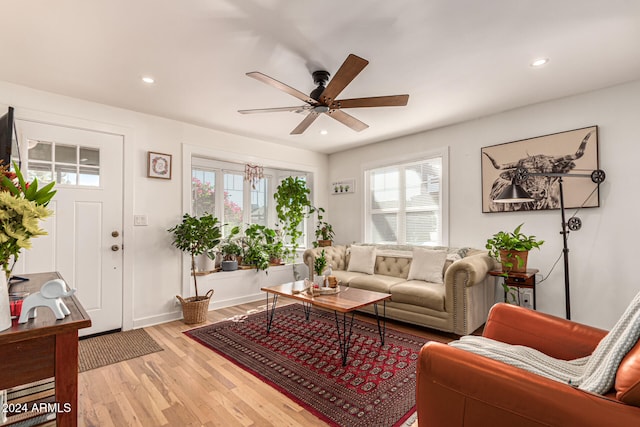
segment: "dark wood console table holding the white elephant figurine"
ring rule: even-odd
[[[59,273],[26,274],[28,281],[11,285],[10,291],[38,292],[49,280],[62,279]],[[64,280],[64,279],[63,279]],[[78,330],[91,326],[91,319],[76,296],[63,298],[71,314],[57,320],[42,307],[35,319],[0,332],[0,390],[55,378],[55,399],[69,408],[56,414],[58,426],[78,423]],[[63,406],[67,404],[67,406]]]

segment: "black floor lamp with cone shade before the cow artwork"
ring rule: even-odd
[[[568,235],[570,231],[580,230],[582,227],[582,221],[578,217],[571,217],[569,221],[565,219],[564,209],[564,189],[562,187],[562,179],[564,177],[571,178],[591,178],[591,181],[600,185],[604,182],[605,173],[603,170],[597,169],[590,174],[570,174],[561,172],[529,172],[525,168],[518,168],[515,170],[511,184],[496,197],[494,203],[527,203],[534,202],[535,199],[527,193],[527,191],[520,185],[526,181],[530,176],[541,177],[557,177],[558,185],[560,189],[560,213],[562,214],[562,255],[564,258],[564,298],[565,298],[565,310],[567,319],[571,319],[571,297],[569,293],[569,246],[567,244]]]

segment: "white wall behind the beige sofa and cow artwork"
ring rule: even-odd
[[[434,106],[437,108],[437,106]],[[600,167],[606,181],[601,207],[584,209],[582,229],[569,239],[571,317],[608,329],[640,291],[635,251],[640,240],[640,81],[480,118],[329,156],[329,181],[355,178],[356,193],[329,197],[336,241],[362,240],[362,165],[397,153],[449,147],[449,244],[482,248],[486,239],[524,222],[524,232],[546,243],[529,265],[547,275],[561,255],[560,212],[483,214],[480,150],[520,139],[599,126]],[[570,211],[573,212],[573,211]],[[564,317],[562,260],[537,289],[538,310]]]

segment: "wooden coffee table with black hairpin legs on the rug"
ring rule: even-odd
[[[338,343],[340,344],[340,355],[342,356],[342,366],[347,364],[347,355],[351,347],[351,330],[353,328],[353,317],[355,311],[359,308],[373,304],[376,314],[376,323],[378,324],[378,333],[380,334],[380,342],[384,345],[384,335],[386,331],[386,301],[391,298],[390,294],[381,292],[366,291],[364,289],[350,288],[347,286],[339,286],[340,292],[329,295],[311,296],[306,292],[304,280],[297,282],[285,283],[282,285],[268,286],[261,288],[267,294],[267,334],[271,331],[273,323],[273,315],[276,311],[278,297],[283,296],[302,302],[306,320],[309,320],[311,307],[321,307],[333,311],[336,318],[336,329],[338,330]],[[269,294],[273,295],[271,307],[269,307]],[[380,324],[380,316],[378,315],[378,303],[382,302],[382,325]],[[338,313],[342,313],[342,328]],[[351,313],[351,317],[347,316]]]

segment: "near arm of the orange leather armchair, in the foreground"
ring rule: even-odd
[[[438,342],[421,349],[419,426],[636,425],[640,410]]]

